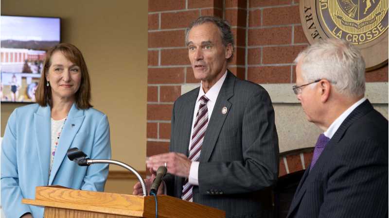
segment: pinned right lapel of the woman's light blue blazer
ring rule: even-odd
[[[68,118],[66,119],[64,127],[62,129],[61,137],[58,141],[57,150],[55,151],[53,168],[49,178],[49,185],[53,183],[58,168],[61,166],[66,152],[68,151],[71,142],[74,139],[74,136],[80,129],[84,117],[84,110],[77,109],[75,104],[73,104],[69,111]]]

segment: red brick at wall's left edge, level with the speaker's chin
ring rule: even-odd
[[[180,84],[184,82],[184,68],[148,68],[148,84]]]

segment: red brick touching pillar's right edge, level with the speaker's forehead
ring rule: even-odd
[[[292,41],[292,27],[272,27],[248,30],[248,45],[283,45]]]

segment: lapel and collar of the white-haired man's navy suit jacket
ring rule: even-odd
[[[306,191],[307,188],[306,185],[310,184],[312,180],[316,178],[316,174],[318,174],[319,172],[318,169],[320,169],[323,164],[326,164],[326,161],[328,160],[326,156],[331,155],[331,154],[327,154],[328,152],[330,152],[331,147],[336,146],[336,144],[341,140],[343,135],[346,133],[346,130],[350,127],[351,124],[354,123],[355,120],[358,120],[360,117],[364,116],[372,109],[373,107],[371,106],[370,101],[366,100],[363,103],[361,103],[358,107],[356,107],[354,111],[351,112],[351,114],[348,117],[346,117],[346,119],[342,122],[342,124],[336,130],[336,133],[332,136],[331,140],[326,145],[324,151],[320,154],[314,168],[312,168],[310,172],[309,172],[309,167],[307,168],[307,170],[305,170],[305,173],[301,178],[301,182],[296,189],[295,197],[293,198],[293,201],[290,205],[288,216],[296,209],[297,205],[300,203]]]

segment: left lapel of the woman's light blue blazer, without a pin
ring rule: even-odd
[[[49,106],[38,107],[34,113],[36,150],[43,184],[48,184],[51,150],[51,110]]]

